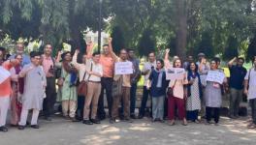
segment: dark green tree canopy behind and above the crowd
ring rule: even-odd
[[[0,27],[13,40],[42,39],[55,47],[66,42],[83,48],[83,31],[98,29],[99,3],[0,1]],[[171,47],[171,53],[182,58],[198,52],[226,59],[256,55],[255,0],[103,0],[102,5],[103,30],[112,34],[115,50],[132,47],[146,55],[158,47]]]

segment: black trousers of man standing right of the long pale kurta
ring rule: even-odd
[[[53,107],[56,102],[55,77],[47,77],[46,95],[47,98],[43,102],[43,112],[45,117],[49,117],[54,111]]]

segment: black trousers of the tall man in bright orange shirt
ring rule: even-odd
[[[108,109],[109,109],[109,116],[112,116],[112,78],[111,77],[102,77],[101,84],[102,90],[101,95],[98,102],[98,110],[97,114],[98,117],[105,117],[106,112],[104,109],[104,91],[106,90],[107,102],[108,102]]]

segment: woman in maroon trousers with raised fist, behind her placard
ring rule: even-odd
[[[165,62],[167,63],[166,69],[172,68],[169,61],[170,49],[166,49]],[[173,68],[182,68],[180,59],[174,61]],[[168,118],[170,119],[170,125],[175,125],[175,112],[177,107],[177,114],[180,120],[183,120],[182,125],[187,126],[187,120],[185,117],[185,98],[187,97],[185,85],[188,83],[186,73],[182,73],[183,77],[172,79],[169,83],[168,92]]]

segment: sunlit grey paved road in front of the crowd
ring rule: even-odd
[[[221,119],[220,126],[180,123],[171,127],[151,123],[149,119],[134,123],[108,121],[101,125],[85,126],[61,118],[52,122],[40,121],[41,129],[18,131],[10,128],[0,132],[0,145],[255,145],[256,130],[247,130],[242,120]]]

